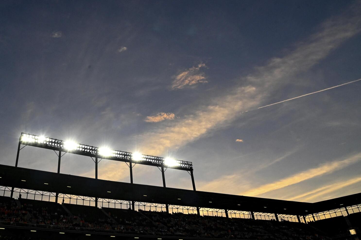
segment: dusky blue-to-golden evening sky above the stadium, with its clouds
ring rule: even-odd
[[[361,79],[360,32],[361,1],[4,1],[0,163],[25,132],[191,161],[201,191],[361,192],[361,81],[271,105]],[[26,146],[18,166],[56,172],[57,156]],[[130,182],[125,163],[98,171]],[[95,164],[66,154],[60,172]],[[155,167],[133,175],[162,186]]]

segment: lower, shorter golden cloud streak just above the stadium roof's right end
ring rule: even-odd
[[[348,180],[343,181],[343,182],[336,182],[336,183],[333,183],[333,184],[330,184],[330,185],[319,187],[319,188],[314,189],[312,191],[305,192],[303,194],[291,197],[290,199],[287,199],[287,200],[294,201],[294,200],[297,199],[299,201],[310,201],[312,199],[315,199],[316,197],[325,196],[329,192],[334,192],[336,190],[347,187],[347,186],[352,185],[354,183],[358,183],[360,181],[361,181],[361,176],[357,176],[357,177],[348,179]],[[317,193],[317,194],[315,194],[315,193]],[[305,196],[308,196],[308,197],[305,197]]]

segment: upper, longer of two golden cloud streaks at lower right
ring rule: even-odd
[[[280,179],[273,183],[267,183],[260,187],[252,188],[251,190],[244,192],[242,194],[246,195],[246,196],[257,196],[260,194],[264,194],[266,192],[270,192],[270,191],[277,190],[277,189],[280,189],[283,187],[287,187],[287,186],[305,181],[305,180],[313,178],[313,177],[317,177],[317,176],[324,175],[324,174],[330,174],[336,170],[345,168],[346,166],[354,164],[360,160],[361,160],[361,153],[358,153],[358,154],[355,154],[344,160],[325,163],[316,168],[311,168],[311,169],[305,170],[303,172],[293,174],[290,177]]]

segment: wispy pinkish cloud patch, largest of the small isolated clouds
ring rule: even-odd
[[[204,63],[200,63],[198,66],[191,67],[175,76],[172,83],[172,89],[181,89],[184,88],[184,86],[191,86],[198,83],[208,83],[208,81],[205,80],[206,77],[204,72],[200,71],[201,67],[206,66]]]

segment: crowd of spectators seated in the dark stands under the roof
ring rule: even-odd
[[[303,223],[103,208],[0,197],[0,221],[79,231],[219,239],[330,239]]]

